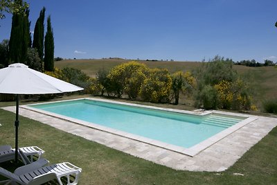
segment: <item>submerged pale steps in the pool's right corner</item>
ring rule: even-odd
[[[204,125],[213,125],[217,127],[231,127],[235,123],[240,122],[241,119],[238,118],[224,118],[221,116],[209,116],[205,121],[202,122]]]

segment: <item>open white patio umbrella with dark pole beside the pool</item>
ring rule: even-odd
[[[25,64],[10,64],[0,69],[0,93],[16,94],[15,161],[18,158],[19,94],[57,94],[80,91],[83,88],[28,68]]]

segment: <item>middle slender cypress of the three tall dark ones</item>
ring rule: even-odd
[[[37,49],[39,53],[39,58],[43,60],[44,57],[44,17],[45,17],[45,7],[39,13],[39,18],[35,23],[33,48]]]

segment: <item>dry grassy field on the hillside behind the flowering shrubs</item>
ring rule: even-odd
[[[100,60],[62,60],[55,62],[55,67],[73,67],[87,73],[88,76],[95,77],[99,69],[109,71],[112,67],[130,60],[123,59],[100,59]],[[167,62],[167,61],[143,61],[136,60],[146,64],[150,68],[166,68],[170,73],[175,71],[193,71],[197,69],[202,62]],[[277,97],[277,68],[276,67],[245,67],[234,65],[238,74],[247,76],[253,86],[253,102],[262,109],[262,101]]]

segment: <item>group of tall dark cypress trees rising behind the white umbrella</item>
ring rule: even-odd
[[[12,27],[10,39],[3,39],[0,44],[0,64],[8,67],[12,63],[24,63],[31,69],[37,71],[54,70],[54,37],[51,27],[51,17],[47,18],[47,30],[44,37],[45,8],[39,13],[35,23],[32,37],[30,33],[30,21],[28,19],[30,10],[21,0],[12,1],[15,7],[26,7],[24,11],[12,12]],[[45,40],[44,40],[45,38]]]

